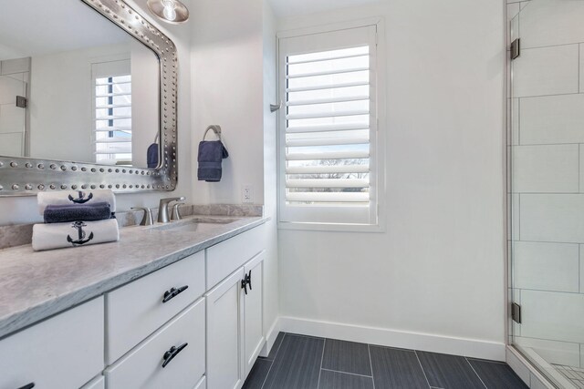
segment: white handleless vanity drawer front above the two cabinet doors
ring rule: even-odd
[[[264,225],[261,225],[208,248],[207,290],[264,250],[265,241]]]

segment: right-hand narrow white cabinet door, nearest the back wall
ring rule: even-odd
[[[264,343],[264,257],[266,251],[257,254],[245,264],[245,277],[249,277],[245,294],[245,375],[254,366],[255,359]]]

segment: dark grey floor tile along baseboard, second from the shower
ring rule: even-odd
[[[446,389],[485,389],[463,356],[416,352],[431,386]]]

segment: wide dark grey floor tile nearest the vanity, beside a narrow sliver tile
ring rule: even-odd
[[[316,389],[324,339],[284,336],[264,389]]]

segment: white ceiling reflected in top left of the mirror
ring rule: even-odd
[[[129,35],[80,0],[5,1],[0,60],[127,42]]]

